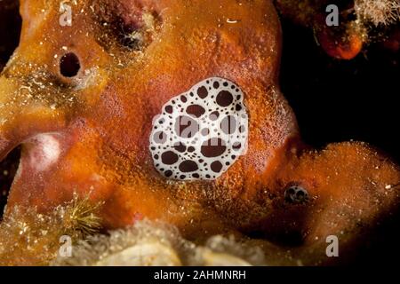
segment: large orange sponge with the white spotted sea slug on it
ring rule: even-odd
[[[347,259],[398,208],[396,163],[364,143],[301,142],[272,0],[21,0],[20,13],[0,76],[0,154],[22,147],[1,264],[47,263],[65,232],[46,216],[76,198],[68,228],[146,217],[191,241],[256,233],[270,264]],[[90,204],[95,217],[76,217]]]

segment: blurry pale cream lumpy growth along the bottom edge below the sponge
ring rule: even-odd
[[[264,265],[258,246],[216,235],[196,245],[163,222],[144,219],[135,225],[80,241],[71,257],[58,256],[52,265]]]

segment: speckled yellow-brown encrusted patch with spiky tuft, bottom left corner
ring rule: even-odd
[[[75,243],[98,233],[100,206],[74,194],[49,214],[35,208],[13,208],[0,223],[0,265],[48,264],[59,252],[61,236]]]

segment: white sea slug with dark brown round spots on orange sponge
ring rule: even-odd
[[[247,146],[243,99],[235,83],[219,77],[170,99],[156,116],[149,138],[156,170],[179,180],[220,177]]]

